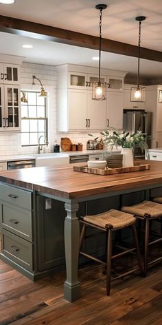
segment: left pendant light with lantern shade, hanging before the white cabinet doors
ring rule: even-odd
[[[100,39],[99,39],[99,76],[98,76],[98,82],[92,83],[92,99],[95,99],[96,101],[103,101],[106,99],[106,87],[107,83],[104,83],[101,81],[101,41],[102,41],[102,10],[106,9],[106,5],[97,5],[95,6],[95,9],[100,10]]]

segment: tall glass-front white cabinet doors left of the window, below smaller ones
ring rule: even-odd
[[[1,86],[0,129],[1,131],[19,131],[20,127],[20,88],[14,85]],[[4,96],[3,96],[4,92]]]

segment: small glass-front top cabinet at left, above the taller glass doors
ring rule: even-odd
[[[18,84],[20,80],[19,65],[0,63],[0,83]]]

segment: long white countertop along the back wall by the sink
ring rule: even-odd
[[[119,152],[120,149],[115,149],[113,152]],[[27,154],[27,155],[12,155],[12,156],[0,156],[0,162],[7,162],[7,161],[16,161],[16,160],[31,160],[37,159],[38,157],[42,156],[79,156],[79,155],[91,155],[91,154],[103,154],[105,151],[102,149],[97,150],[82,150],[82,151],[60,151],[60,152],[48,152],[45,154]],[[111,151],[108,151],[111,152]]]

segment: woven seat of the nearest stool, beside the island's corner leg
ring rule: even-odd
[[[83,220],[98,227],[113,229],[123,228],[135,222],[135,217],[130,213],[111,209],[104,213],[95,214],[95,216],[84,216]]]

